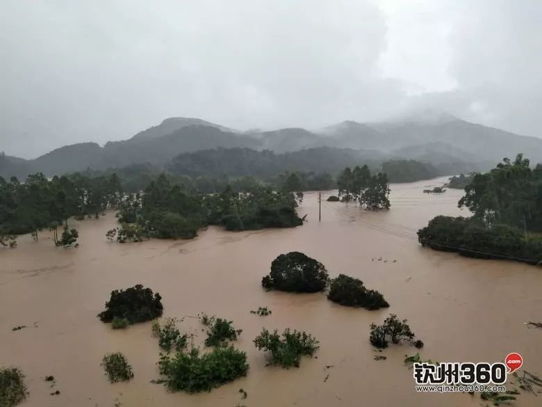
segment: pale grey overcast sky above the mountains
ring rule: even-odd
[[[539,0],[3,0],[0,150],[433,109],[542,136]]]

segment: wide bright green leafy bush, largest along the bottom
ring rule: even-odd
[[[233,346],[217,347],[199,355],[199,349],[179,351],[175,356],[161,355],[160,373],[167,376],[165,383],[172,391],[211,391],[238,377],[246,376],[249,365],[247,354]]]

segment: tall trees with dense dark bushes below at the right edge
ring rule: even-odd
[[[542,165],[530,168],[518,154],[489,173],[476,174],[459,207],[471,218],[437,216],[418,231],[418,241],[436,250],[539,264],[542,260]]]

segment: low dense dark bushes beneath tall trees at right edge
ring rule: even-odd
[[[473,218],[436,216],[418,230],[418,241],[434,250],[458,252],[481,259],[507,259],[537,264],[542,239],[508,225],[486,226]]]

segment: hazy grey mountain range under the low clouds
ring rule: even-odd
[[[518,152],[524,152],[533,162],[542,161],[541,138],[520,136],[450,115],[379,123],[349,120],[312,131],[238,131],[197,118],[167,118],[127,140],[110,141],[103,147],[97,143],[66,145],[29,160],[1,154],[0,175],[24,179],[38,171],[52,176],[136,163],[165,168],[179,154],[218,147],[271,150],[277,154],[333,147],[359,150],[359,157],[370,157],[372,161],[415,159],[449,166],[450,173],[459,168],[491,168],[503,157],[515,157]],[[351,151],[348,154],[352,156]]]

